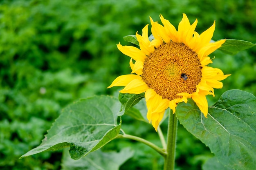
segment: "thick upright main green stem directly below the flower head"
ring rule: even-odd
[[[176,136],[177,136],[177,118],[170,110],[168,132],[167,132],[167,156],[164,160],[164,170],[174,170],[175,163],[175,149],[176,149]]]

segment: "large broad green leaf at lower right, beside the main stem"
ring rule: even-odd
[[[176,116],[195,137],[209,146],[218,161],[236,170],[256,165],[256,97],[240,90],[222,94],[205,118],[192,99],[180,103]]]

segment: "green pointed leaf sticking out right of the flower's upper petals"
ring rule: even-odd
[[[223,53],[234,55],[240,51],[252,48],[256,44],[243,40],[226,39],[225,43],[219,48]]]

